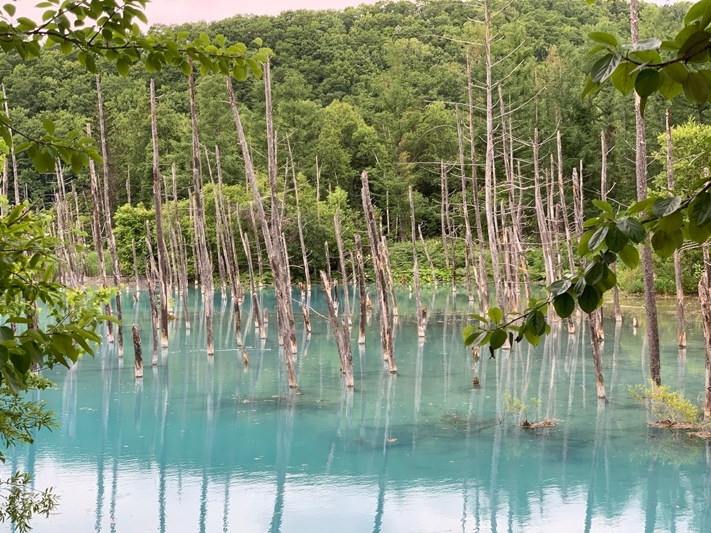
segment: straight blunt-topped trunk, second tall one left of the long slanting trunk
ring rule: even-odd
[[[193,107],[193,106],[191,106]],[[197,136],[197,129],[195,132]],[[161,346],[168,348],[168,249],[163,232],[161,208],[161,169],[158,158],[158,122],[156,117],[156,84],[151,79],[151,139],[153,144],[153,201],[156,208],[156,244],[158,247],[158,276],[161,284]],[[197,188],[197,185],[196,185]],[[196,195],[197,195],[196,190]],[[196,196],[197,198],[197,196]],[[202,209],[202,207],[200,208]],[[198,219],[199,220],[199,219]]]

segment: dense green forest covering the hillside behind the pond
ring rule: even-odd
[[[498,11],[497,11],[498,10]],[[680,27],[688,4],[656,6],[642,4],[641,36],[671,38]],[[634,107],[631,97],[608,87],[592,98],[581,99],[592,31],[629,36],[629,6],[625,1],[599,1],[587,6],[579,0],[517,0],[492,4],[493,81],[496,83],[494,126],[496,135],[510,131],[515,166],[520,169],[527,239],[537,241],[538,226],[533,209],[533,148],[535,126],[541,141],[539,158],[543,169],[556,156],[555,134],[562,135],[565,176],[582,166],[586,205],[600,194],[602,130],[609,147],[609,193],[613,203],[626,205],[634,198]],[[397,259],[398,242],[410,238],[410,208],[407,188],[415,188],[415,211],[424,237],[431,239],[437,261],[441,228],[441,176],[444,163],[453,173],[454,190],[459,168],[457,108],[468,113],[466,63],[469,56],[474,82],[474,139],[477,154],[465,164],[483,168],[486,123],[484,119],[483,25],[481,11],[468,2],[395,1],[343,11],[286,11],[271,16],[235,16],[215,23],[190,23],[179,30],[191,36],[206,33],[225,36],[228,42],[261,38],[274,50],[274,121],[278,161],[287,190],[298,174],[301,210],[311,261],[324,265],[324,240],[333,242],[333,213],[341,209],[346,242],[360,228],[360,173],[370,173],[376,207],[383,215],[387,236],[395,247],[394,269],[408,272],[407,247]],[[151,32],[166,28],[154,26]],[[149,79],[156,81],[161,169],[164,176],[176,165],[178,200],[187,220],[192,183],[191,127],[186,78],[178,69],[146,73],[135,69],[119,76],[99,65],[107,114],[109,150],[109,198],[114,211],[119,256],[124,274],[132,272],[131,239],[139,254],[145,254],[141,235],[144,220],[153,217]],[[41,58],[26,63],[17,55],[0,58],[10,115],[19,131],[41,136],[42,121],[51,118],[58,134],[82,131],[87,122],[97,123],[94,77],[73,55],[55,47]],[[230,205],[247,210],[250,191],[245,187],[245,169],[237,143],[227,92],[221,75],[203,75],[197,84],[198,120],[203,145],[201,161],[205,180],[208,234],[214,243],[214,203],[209,174],[214,171],[214,147],[222,156],[225,195]],[[264,85],[251,78],[235,85],[242,121],[252,146],[257,171],[266,175],[264,130]],[[664,112],[670,107],[675,124],[685,124],[693,144],[700,135],[693,122],[704,122],[707,104],[690,104],[683,97],[665,102],[651,99],[646,109],[650,176],[665,176],[663,146]],[[503,119],[503,120],[502,120]],[[504,122],[505,121],[505,122]],[[502,122],[505,125],[502,128]],[[97,127],[94,128],[97,131]],[[696,133],[695,133],[696,132]],[[675,137],[676,138],[676,137]],[[684,145],[685,146],[685,145]],[[683,149],[683,146],[682,146]],[[503,176],[506,153],[501,139],[495,146],[496,173]],[[207,155],[209,154],[209,155]],[[701,168],[704,161],[695,161]],[[687,163],[680,163],[687,164]],[[550,167],[552,172],[552,163]],[[483,170],[482,170],[483,172]],[[690,171],[693,174],[693,169]],[[263,177],[264,177],[263,176]],[[288,179],[287,179],[288,178]],[[265,179],[265,178],[264,178]],[[80,209],[90,214],[87,173],[74,175],[67,168],[64,180],[78,195]],[[55,198],[53,173],[39,174],[31,162],[18,158],[21,190],[38,205],[50,208]],[[663,180],[652,180],[664,187]],[[130,190],[130,204],[129,203]],[[481,193],[481,191],[480,191]],[[483,193],[481,193],[483,194]],[[572,193],[571,193],[572,194]],[[505,192],[499,191],[501,198]],[[173,200],[170,186],[166,196]],[[318,201],[317,201],[318,200]],[[455,222],[461,220],[461,201],[456,193],[449,200]],[[296,234],[294,200],[289,195],[285,210],[287,246],[300,257]],[[243,214],[243,216],[245,216]],[[247,220],[247,218],[245,218]],[[88,224],[87,224],[88,227]],[[459,244],[458,244],[459,245]],[[350,246],[350,244],[347,244]],[[463,243],[461,243],[463,246]],[[528,250],[533,274],[542,278],[542,265],[535,245]],[[215,246],[213,245],[213,251]],[[694,290],[700,254],[687,254],[685,284]],[[87,258],[87,259],[90,259]],[[424,258],[423,258],[424,259]],[[441,257],[439,258],[441,259]],[[437,261],[442,264],[441,260]],[[142,262],[141,269],[142,269]],[[334,259],[334,265],[336,264]],[[670,263],[669,263],[670,264]],[[658,275],[658,289],[673,291],[668,267]],[[402,268],[401,268],[402,266]],[[662,266],[661,264],[659,266]],[[444,269],[444,266],[443,266]],[[446,276],[444,272],[441,273]],[[294,272],[294,279],[299,274]],[[639,290],[634,272],[620,275],[623,289]]]

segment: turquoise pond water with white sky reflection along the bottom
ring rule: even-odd
[[[134,321],[144,332],[144,378],[134,379],[130,345],[124,361],[104,345],[94,360],[46,372],[56,387],[38,397],[61,428],[10,451],[1,472],[25,469],[37,488],[56,488],[58,514],[38,518],[36,532],[711,531],[706,443],[648,429],[627,392],[648,377],[644,323],[632,328],[632,313],[642,319],[643,309],[625,308],[617,329],[606,320],[608,397],[598,402],[587,327],[568,335],[554,326],[538,348],[483,356],[475,367],[461,342],[466,296],[433,290],[425,293],[424,343],[414,297],[400,293],[397,376],[383,369],[373,316],[365,350],[353,343],[353,392],[343,387],[333,334],[315,313],[310,338],[296,313],[297,392],[287,387],[275,313],[269,338],[255,347],[247,303],[251,364],[242,367],[231,306],[219,294],[215,356],[205,355],[193,293],[193,330],[183,329],[177,306],[170,348],[151,368],[148,297],[134,307],[126,293],[126,337]],[[273,309],[271,291],[262,299]],[[326,313],[321,291],[311,305]],[[697,400],[698,317],[689,318],[681,355],[675,328],[675,317],[663,315],[663,380]],[[529,418],[559,424],[515,427],[505,392],[538,397]]]

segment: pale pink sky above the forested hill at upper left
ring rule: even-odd
[[[40,0],[16,1],[17,16],[41,18]],[[146,6],[150,24],[216,21],[236,14],[278,15],[289,9],[343,9],[375,0],[152,0]]]

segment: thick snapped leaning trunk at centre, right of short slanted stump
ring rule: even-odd
[[[373,267],[375,269],[375,280],[378,286],[378,296],[380,298],[380,340],[383,345],[383,359],[387,361],[390,373],[397,374],[397,362],[395,362],[395,352],[392,347],[392,325],[390,324],[390,306],[387,302],[387,281],[385,280],[385,265],[380,253],[380,237],[378,228],[375,226],[375,215],[373,214],[373,203],[370,200],[370,187],[368,186],[368,173],[363,172],[360,176],[363,183],[360,193],[363,197],[363,212],[365,222],[368,226],[368,238],[370,239],[370,253],[373,255]]]

